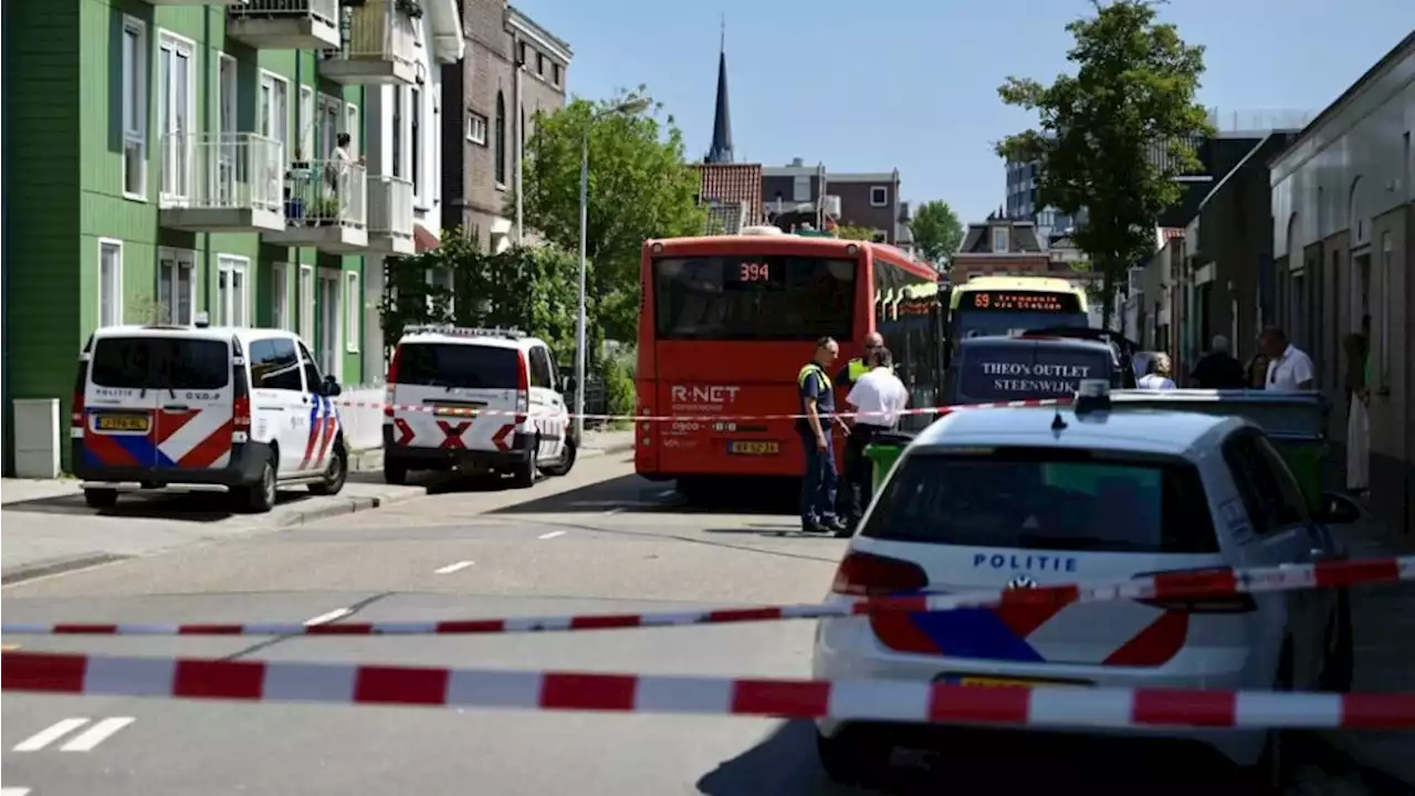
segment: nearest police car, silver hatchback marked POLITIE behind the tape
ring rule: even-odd
[[[955,412],[904,450],[850,541],[833,601],[1115,581],[1167,571],[1341,558],[1264,432],[1238,416],[1126,408],[1104,382],[1074,411]],[[1182,602],[1104,602],[828,619],[814,676],[961,686],[1323,690],[1350,687],[1351,616],[1340,589]],[[1080,731],[1080,729],[1078,729]],[[1085,729],[1084,732],[1095,732]],[[1118,729],[1119,734],[1140,734]],[[920,725],[822,721],[835,779],[883,766]],[[1217,751],[1272,785],[1265,731],[1155,731]]]

